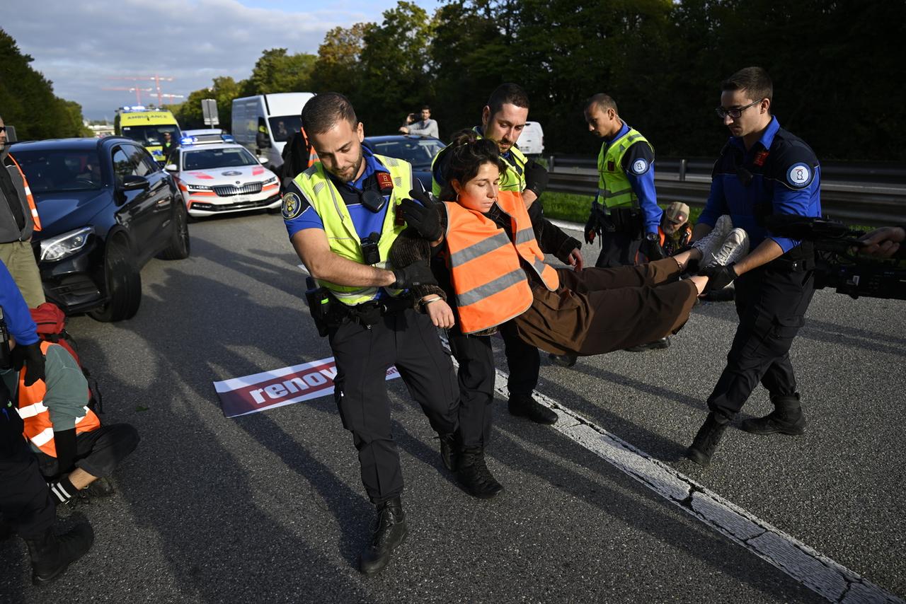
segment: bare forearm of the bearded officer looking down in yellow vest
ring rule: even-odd
[[[334,254],[322,229],[306,228],[293,235],[291,241],[296,254],[315,279],[349,287],[387,287],[396,282],[390,271]]]

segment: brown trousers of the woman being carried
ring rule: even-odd
[[[557,273],[557,291],[535,281],[535,302],[513,320],[520,338],[554,354],[603,354],[663,338],[679,331],[698,301],[695,285],[675,281],[673,258]]]

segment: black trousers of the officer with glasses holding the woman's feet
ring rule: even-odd
[[[795,393],[789,350],[812,302],[814,273],[775,261],[740,275],[735,284],[739,326],[727,367],[708,397],[708,408],[730,419],[759,381],[771,398]]]

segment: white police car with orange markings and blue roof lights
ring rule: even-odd
[[[168,158],[188,215],[215,216],[281,205],[280,182],[228,134],[185,136]]]

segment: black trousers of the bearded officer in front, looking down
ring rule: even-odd
[[[457,428],[453,363],[428,316],[406,309],[366,327],[343,321],[328,332],[337,375],[334,399],[359,451],[361,482],[371,503],[402,493],[400,455],[390,430],[387,370],[396,365],[412,398],[439,434]]]

